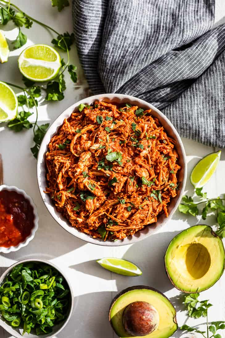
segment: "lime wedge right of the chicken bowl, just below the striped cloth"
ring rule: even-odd
[[[195,188],[203,187],[213,175],[220,161],[221,151],[212,152],[201,159],[192,170],[190,180]]]

